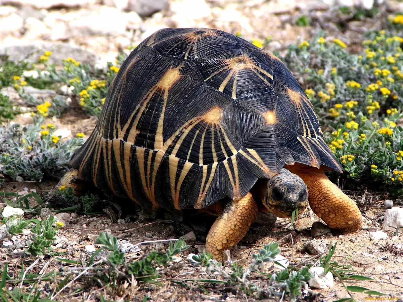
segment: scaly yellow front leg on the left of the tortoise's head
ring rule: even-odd
[[[237,201],[229,201],[208,232],[207,252],[217,261],[226,260],[225,250],[233,248],[245,236],[257,214],[258,205],[250,192]]]

